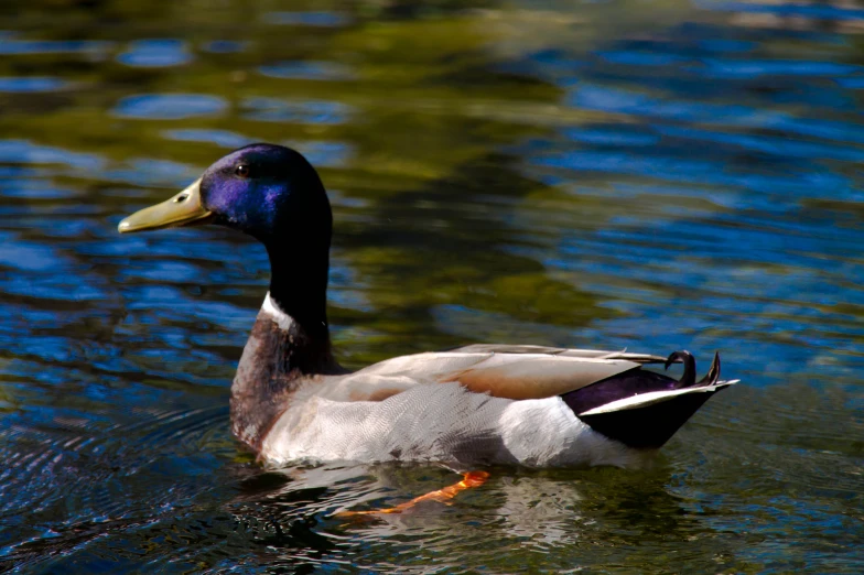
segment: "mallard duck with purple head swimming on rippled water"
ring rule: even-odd
[[[716,355],[696,381],[687,351],[530,345],[472,345],[349,372],[328,334],[333,216],[303,155],[264,143],[236,150],[174,197],[123,219],[119,231],[205,223],[252,236],[270,258],[270,290],[230,399],[234,433],[270,464],[637,467],[735,383],[720,380]],[[680,380],[644,369],[672,362],[683,362]]]

